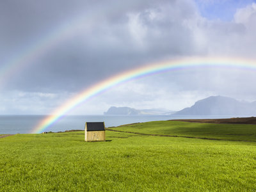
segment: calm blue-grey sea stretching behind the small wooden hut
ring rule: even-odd
[[[46,115],[0,115],[0,134],[31,133]],[[106,127],[116,127],[125,124],[150,122],[172,119],[200,118],[231,118],[232,116],[216,115],[140,115],[140,116],[110,116],[110,115],[68,115],[44,129],[44,132],[60,132],[68,130],[83,130],[85,122],[104,122]]]

